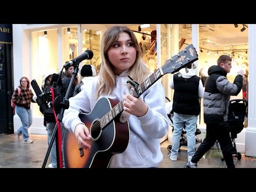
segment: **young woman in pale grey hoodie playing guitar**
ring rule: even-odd
[[[124,100],[123,109],[131,114],[129,143],[123,153],[111,158],[108,167],[157,167],[163,160],[160,139],[168,130],[161,82],[157,81],[139,98],[130,94],[134,89],[127,83],[131,81],[127,76],[141,84],[151,73],[141,60],[141,49],[135,35],[127,27],[114,26],[105,32],[101,58],[98,76],[85,79],[82,91],[69,99],[69,109],[65,110],[63,117],[65,127],[75,134],[83,149],[91,149],[90,127],[85,126],[78,114],[90,113],[102,97]]]

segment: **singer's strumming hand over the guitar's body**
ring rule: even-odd
[[[78,124],[75,127],[75,137],[79,143],[79,145],[82,148],[85,149],[90,149],[91,148],[91,134],[89,129],[83,125],[83,124]]]

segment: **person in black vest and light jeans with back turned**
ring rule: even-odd
[[[180,69],[179,74],[174,74],[170,82],[171,89],[174,89],[173,96],[173,137],[170,159],[177,161],[180,148],[180,137],[185,127],[188,142],[188,162],[195,154],[196,146],[196,123],[200,113],[199,99],[203,98],[204,88],[201,79],[196,71],[191,69],[191,64]]]

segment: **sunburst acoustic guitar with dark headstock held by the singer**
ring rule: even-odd
[[[198,60],[195,47],[190,44],[186,49],[167,60],[143,83],[137,91],[131,92],[133,97],[140,97],[158,79],[168,73],[175,73],[181,68]],[[130,128],[127,114],[123,111],[123,101],[106,97],[100,98],[89,113],[80,113],[79,118],[91,133],[91,149],[83,149],[78,145],[73,132],[66,129],[63,139],[65,166],[84,168],[107,168],[115,154],[123,153],[129,143]]]

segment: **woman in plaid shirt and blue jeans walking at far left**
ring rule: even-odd
[[[33,100],[33,92],[29,89],[29,79],[27,77],[20,78],[21,91],[18,95],[18,88],[12,94],[12,101],[16,104],[15,110],[21,120],[21,127],[17,130],[18,139],[20,135],[23,135],[23,143],[33,143],[32,139],[29,139],[28,128],[32,124],[32,112],[30,109],[30,102]]]

